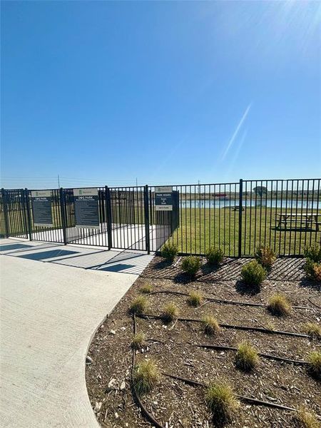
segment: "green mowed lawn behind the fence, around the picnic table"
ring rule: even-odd
[[[321,232],[315,230],[315,223],[311,231],[310,225],[305,230],[292,220],[286,229],[282,225],[279,230],[275,227],[277,213],[281,213],[280,208],[265,206],[248,207],[243,211],[242,255],[253,255],[260,243],[270,245],[276,254],[303,254],[305,245],[320,241]],[[180,227],[170,240],[178,245],[180,253],[205,254],[210,246],[214,246],[222,248],[225,255],[233,256],[238,255],[238,231],[239,213],[230,207],[182,208]]]

